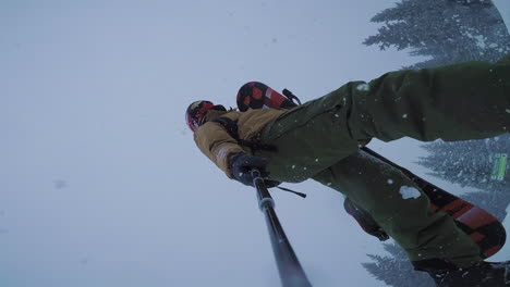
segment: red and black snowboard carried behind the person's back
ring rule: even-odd
[[[267,108],[287,110],[298,105],[293,102],[293,100],[296,100],[298,98],[292,95],[292,92],[284,89],[283,95],[263,83],[250,82],[243,85],[238,92],[238,109],[242,112],[247,111],[248,109]],[[450,215],[454,220],[457,226],[469,235],[476,245],[478,245],[482,258],[486,259],[495,254],[505,245],[507,238],[505,227],[493,214],[434,184],[430,184],[409,170],[405,170],[366,147],[362,148],[361,152],[366,152],[381,160],[394,169],[400,170],[411,178],[429,198],[430,210],[434,212],[446,212]],[[500,165],[501,164],[498,166]],[[495,172],[495,174],[498,173]],[[367,234],[377,237],[381,241],[389,238],[384,229],[377,225],[374,219],[372,219],[371,214],[357,207],[354,202],[349,200],[349,198],[345,199],[343,205],[345,211],[356,220],[360,226]]]

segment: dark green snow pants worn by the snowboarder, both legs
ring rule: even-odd
[[[442,213],[430,214],[425,196],[403,200],[398,188],[415,187],[409,178],[355,153],[372,138],[453,141],[509,130],[507,57],[497,63],[398,71],[369,83],[348,83],[266,125],[258,140],[275,146],[278,152],[254,153],[269,160],[271,179],[299,183],[314,178],[345,194],[371,212],[412,261],[438,258],[463,266],[479,260],[477,247],[452,220]]]

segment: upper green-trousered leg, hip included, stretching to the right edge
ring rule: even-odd
[[[388,73],[351,82],[283,113],[258,140],[278,152],[272,179],[302,182],[355,153],[369,139],[465,140],[510,130],[510,58]]]

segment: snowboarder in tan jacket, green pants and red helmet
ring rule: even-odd
[[[292,110],[240,112],[196,101],[186,121],[202,152],[230,178],[252,185],[250,171],[258,169],[269,180],[313,178],[344,194],[438,286],[510,286],[510,261],[483,261],[409,177],[360,152],[372,138],[456,141],[509,133],[510,55],[350,82]]]

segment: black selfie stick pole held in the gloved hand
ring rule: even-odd
[[[264,179],[257,170],[252,171],[253,185],[257,189],[258,207],[266,216],[267,229],[271,239],[281,285],[283,287],[312,287],[292,246],[287,238],[275,212],[275,201],[267,190]]]

